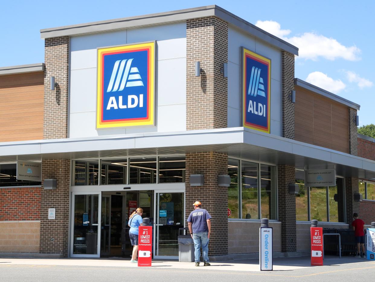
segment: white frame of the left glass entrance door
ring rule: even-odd
[[[87,254],[74,254],[74,206],[75,206],[75,195],[98,195],[98,224],[93,224],[98,226],[98,242],[96,255]],[[102,192],[92,191],[92,192],[72,192],[72,203],[71,203],[71,238],[70,238],[70,250],[69,257],[71,258],[100,258],[100,241],[101,241],[101,218],[102,218]]]

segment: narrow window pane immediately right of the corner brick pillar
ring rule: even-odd
[[[232,214],[228,218],[240,218],[239,214],[239,160],[228,159],[228,174],[231,177],[231,186],[228,187],[228,208]]]

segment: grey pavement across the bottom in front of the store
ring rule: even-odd
[[[273,271],[260,271],[258,259],[211,262],[153,260],[138,267],[129,260],[0,258],[0,281],[339,281],[374,280],[375,261],[365,258],[326,256],[324,266],[310,265],[310,257],[274,258]]]

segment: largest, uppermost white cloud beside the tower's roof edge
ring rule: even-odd
[[[323,57],[328,60],[338,58],[347,61],[357,61],[360,59],[361,50],[355,45],[347,47],[334,38],[318,35],[314,32],[305,32],[300,36],[286,37],[291,33],[289,29],[281,29],[281,25],[276,21],[257,21],[255,24],[261,29],[278,36],[279,38],[293,44],[299,48],[299,58],[317,60]]]

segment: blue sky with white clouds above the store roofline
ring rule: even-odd
[[[375,123],[375,1],[6,1],[0,67],[44,61],[40,29],[216,4],[300,49],[295,76],[361,105]]]

